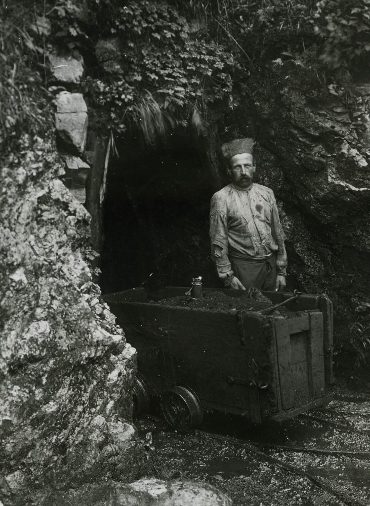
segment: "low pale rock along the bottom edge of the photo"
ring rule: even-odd
[[[144,478],[131,484],[108,482],[85,485],[59,496],[50,495],[45,506],[231,506],[232,501],[207,483],[166,482]]]

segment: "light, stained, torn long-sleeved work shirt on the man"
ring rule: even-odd
[[[276,272],[286,274],[287,258],[274,193],[253,183],[248,190],[231,183],[216,192],[210,209],[211,255],[219,277],[233,275],[229,256],[264,259],[276,251]]]

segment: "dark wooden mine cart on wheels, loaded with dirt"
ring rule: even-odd
[[[284,303],[281,313],[256,311],[248,299],[242,310],[167,304],[185,292],[139,288],[104,297],[138,352],[138,412],[158,396],[165,418],[181,431],[199,425],[204,408],[260,424],[331,399],[333,311],[325,295],[263,292],[273,305]]]

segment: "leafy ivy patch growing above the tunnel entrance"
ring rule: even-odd
[[[183,119],[232,91],[233,58],[215,40],[190,35],[188,21],[167,2],[131,0],[110,27],[119,38],[122,75],[87,81],[87,91],[110,109],[111,126],[125,131],[138,107],[153,101],[168,117]]]

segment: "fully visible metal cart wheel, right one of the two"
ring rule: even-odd
[[[162,394],[160,407],[167,423],[179,432],[186,432],[203,421],[203,408],[189,387],[173,387]]]

